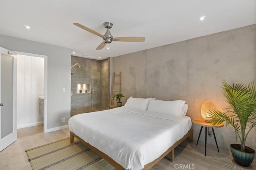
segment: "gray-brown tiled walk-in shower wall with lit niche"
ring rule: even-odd
[[[71,56],[71,116],[100,111],[109,107],[109,59],[94,60]],[[77,91],[77,84],[86,84],[87,93]]]

